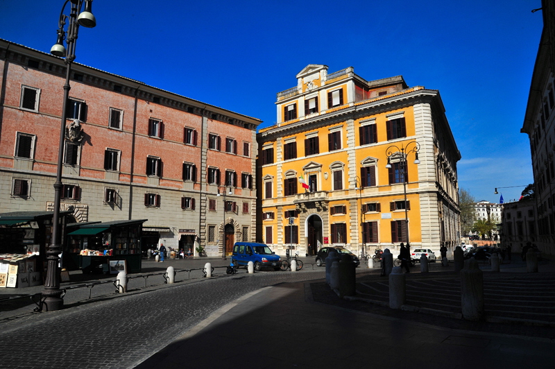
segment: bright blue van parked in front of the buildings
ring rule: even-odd
[[[247,266],[249,261],[255,264],[255,271],[266,266],[275,271],[280,270],[280,257],[264,243],[236,242],[233,246],[231,262],[239,267]]]

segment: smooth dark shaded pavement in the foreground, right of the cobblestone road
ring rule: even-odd
[[[513,266],[507,276],[522,268]],[[325,281],[291,283],[228,304],[136,368],[553,368],[553,331],[393,310],[340,300]]]

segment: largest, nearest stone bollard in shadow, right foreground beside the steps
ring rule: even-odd
[[[466,260],[461,275],[461,308],[466,320],[484,316],[484,273],[473,257]]]

